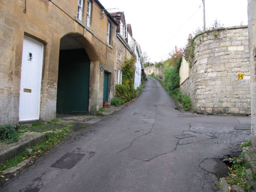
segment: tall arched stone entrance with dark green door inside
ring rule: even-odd
[[[97,106],[98,97],[97,64],[94,47],[81,34],[69,33],[60,39],[57,113],[94,113],[92,109]]]

